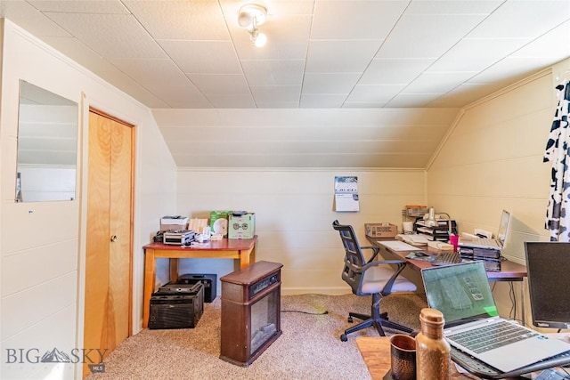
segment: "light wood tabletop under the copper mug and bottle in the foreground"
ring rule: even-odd
[[[390,369],[390,338],[387,336],[357,336],[356,346],[362,355],[372,380],[382,380]],[[460,374],[452,363],[452,379],[477,379]]]

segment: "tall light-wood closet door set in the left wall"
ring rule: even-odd
[[[89,113],[83,346],[105,356],[132,334],[133,130]]]

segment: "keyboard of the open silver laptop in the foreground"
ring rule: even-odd
[[[472,352],[481,353],[538,335],[538,333],[501,320],[485,327],[446,337]]]

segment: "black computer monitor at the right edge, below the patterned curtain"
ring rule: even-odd
[[[570,328],[570,243],[525,242],[533,325]]]

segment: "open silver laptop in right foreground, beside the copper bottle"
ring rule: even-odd
[[[460,352],[509,372],[570,351],[566,342],[499,317],[483,262],[430,267],[421,276],[428,306],[443,312],[445,339]]]

